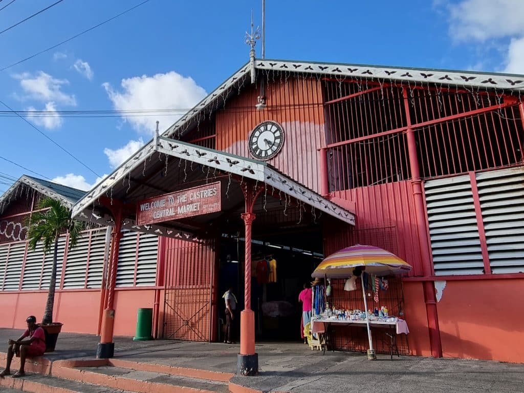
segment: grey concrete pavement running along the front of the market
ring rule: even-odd
[[[0,343],[20,334],[20,330],[0,329]],[[92,359],[97,342],[94,335],[61,333],[56,352],[46,354],[46,358]],[[5,350],[0,347],[0,352]],[[369,362],[365,354],[323,355],[301,343],[260,343],[256,350],[260,375],[234,376],[230,380],[253,389],[252,392],[524,391],[524,364],[410,356],[394,357],[391,361],[389,355],[379,355],[376,362]],[[115,337],[115,359],[132,362],[235,373],[237,353],[238,345],[167,340],[134,342],[130,337]]]

